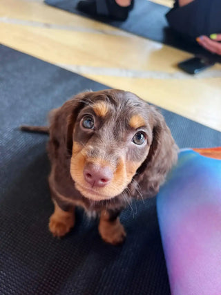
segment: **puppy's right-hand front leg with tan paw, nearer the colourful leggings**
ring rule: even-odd
[[[120,211],[102,211],[99,220],[99,234],[105,242],[112,245],[119,245],[124,242],[126,232],[119,221]]]

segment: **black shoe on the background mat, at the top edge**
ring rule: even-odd
[[[128,12],[133,9],[133,4],[134,0],[127,7],[119,6],[115,0],[89,0],[79,1],[77,9],[93,17],[102,16],[108,19],[125,21],[128,17]]]

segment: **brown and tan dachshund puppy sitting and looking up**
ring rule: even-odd
[[[48,131],[52,234],[67,234],[81,206],[99,214],[103,240],[123,242],[119,213],[133,197],[155,196],[177,161],[164,117],[133,93],[86,92],[50,113]]]

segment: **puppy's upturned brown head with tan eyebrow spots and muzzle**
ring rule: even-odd
[[[73,104],[66,137],[70,175],[90,200],[108,200],[122,193],[156,161],[157,142],[163,142],[165,135],[162,129],[171,137],[162,115],[133,93],[88,92],[74,97]],[[172,137],[168,142],[168,149],[173,149]],[[167,169],[162,170],[165,174]]]

